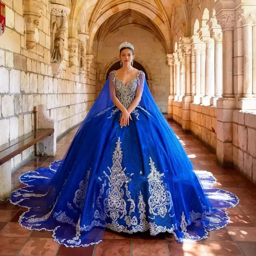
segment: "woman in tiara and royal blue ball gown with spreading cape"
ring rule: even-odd
[[[169,232],[182,243],[228,224],[223,208],[238,198],[212,188],[207,172],[193,172],[145,74],[132,67],[133,49],[119,46],[122,68],[110,72],[64,158],[20,176],[28,187],[11,202],[29,209],[21,226],[52,230],[55,241],[74,247],[99,243],[105,228]]]

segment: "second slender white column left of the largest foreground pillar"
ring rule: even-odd
[[[201,103],[210,105],[214,96],[214,41],[212,38],[205,40],[205,87]]]

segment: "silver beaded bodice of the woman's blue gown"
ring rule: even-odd
[[[125,108],[129,108],[132,101],[135,99],[137,87],[140,83],[139,75],[143,74],[143,71],[140,71],[138,76],[134,77],[127,84],[124,84],[124,82],[116,76],[115,70],[112,71],[112,73],[115,74],[113,82],[116,89],[116,98]]]

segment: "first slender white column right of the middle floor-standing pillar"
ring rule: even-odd
[[[201,44],[193,44],[193,50],[196,55],[196,94],[194,96],[193,102],[196,104],[200,103],[201,97]]]

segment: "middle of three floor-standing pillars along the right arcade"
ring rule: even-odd
[[[182,129],[185,132],[190,131],[190,103],[191,96],[191,44],[187,37],[182,38],[181,49],[185,56],[185,96],[182,97]]]

